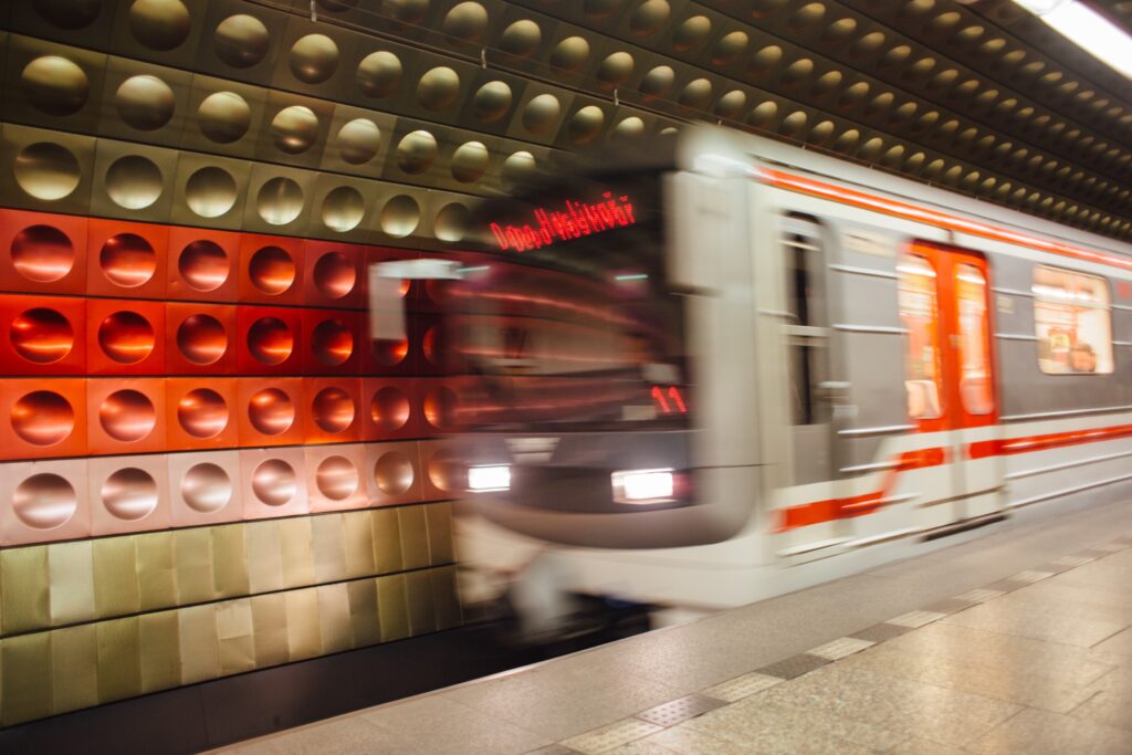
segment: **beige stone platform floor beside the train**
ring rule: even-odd
[[[229,752],[1132,753],[1132,503]]]

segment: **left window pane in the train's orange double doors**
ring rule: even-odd
[[[897,272],[900,319],[908,329],[904,372],[908,415],[914,420],[933,420],[943,413],[935,268],[920,255],[901,255]]]

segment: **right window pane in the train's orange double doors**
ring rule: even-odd
[[[975,265],[955,266],[959,303],[959,395],[970,414],[994,410],[990,381],[990,343],[987,337],[987,280]]]

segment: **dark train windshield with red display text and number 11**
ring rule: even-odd
[[[473,428],[681,428],[683,298],[666,281],[661,174],[488,203],[452,331]]]

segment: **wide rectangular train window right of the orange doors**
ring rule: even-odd
[[[1030,290],[1041,371],[1112,374],[1113,325],[1105,278],[1039,265]]]

